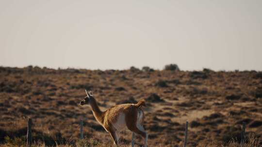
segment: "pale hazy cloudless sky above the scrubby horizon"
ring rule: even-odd
[[[262,0],[0,0],[0,66],[262,71]]]

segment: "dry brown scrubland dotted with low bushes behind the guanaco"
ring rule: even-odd
[[[109,134],[95,121],[91,109],[78,105],[85,97],[85,88],[93,91],[102,110],[146,99],[149,147],[181,146],[186,120],[188,147],[229,146],[232,138],[235,142],[230,147],[237,147],[243,121],[247,136],[262,137],[262,72],[142,71],[134,67],[123,71],[53,70],[29,66],[0,67],[1,146],[24,144],[29,117],[33,118],[33,141],[37,145],[111,146]],[[87,138],[83,141],[77,140],[81,117]],[[131,132],[122,132],[120,142],[123,147],[130,146]],[[138,137],[137,144],[142,143]]]

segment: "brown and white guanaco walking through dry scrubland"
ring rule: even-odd
[[[80,102],[80,105],[90,104],[93,114],[100,125],[110,133],[114,144],[118,144],[119,132],[124,129],[129,129],[132,134],[132,147],[134,146],[135,134],[141,135],[147,147],[148,134],[143,127],[144,112],[141,109],[145,106],[145,100],[141,100],[136,104],[126,103],[115,105],[106,111],[102,112],[90,91],[87,96]]]

